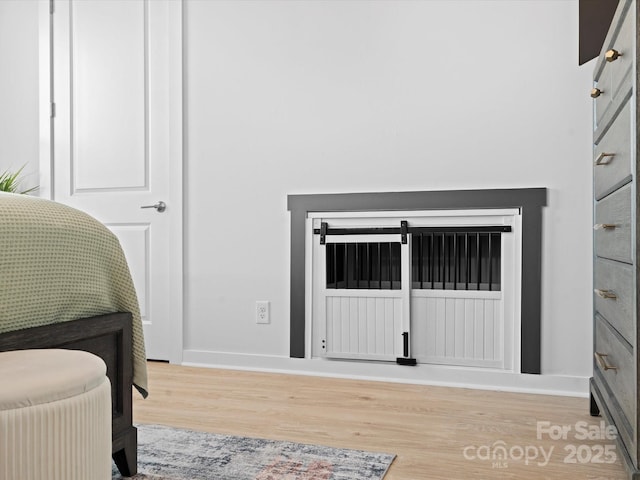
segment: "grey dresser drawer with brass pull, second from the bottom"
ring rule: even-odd
[[[633,267],[597,258],[593,269],[596,312],[633,345]]]

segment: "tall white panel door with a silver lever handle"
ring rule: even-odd
[[[182,355],[181,5],[55,0],[52,14],[52,197],[118,236],[147,356],[172,362]]]

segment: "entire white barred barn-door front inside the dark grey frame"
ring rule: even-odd
[[[519,372],[519,212],[397,214],[312,214],[312,355]]]

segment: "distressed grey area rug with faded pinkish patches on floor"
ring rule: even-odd
[[[135,480],[381,480],[395,455],[138,425]],[[113,480],[123,478],[115,465]],[[125,477],[126,478],[126,477]]]

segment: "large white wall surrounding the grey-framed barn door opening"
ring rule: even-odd
[[[591,375],[577,1],[185,8],[187,351],[288,355],[288,194],[547,187],[542,368]]]

